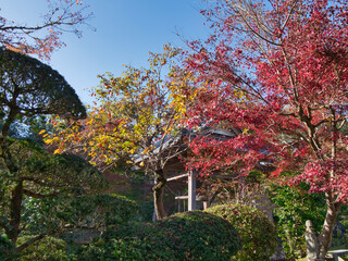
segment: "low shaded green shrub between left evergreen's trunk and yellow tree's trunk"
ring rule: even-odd
[[[138,214],[138,206],[119,195],[76,195],[25,200],[27,232],[30,234],[75,227],[105,229],[126,224]],[[74,231],[75,232],[75,231]],[[73,237],[71,234],[70,237]]]

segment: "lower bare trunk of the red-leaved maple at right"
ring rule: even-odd
[[[319,260],[320,261],[325,260],[325,256],[330,250],[332,238],[333,238],[334,226],[341,207],[341,203],[333,202],[331,199],[332,199],[332,196],[326,195],[327,211],[326,211],[326,216],[325,216],[324,225],[322,228],[322,233],[319,236],[319,244],[320,244]]]

